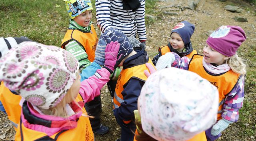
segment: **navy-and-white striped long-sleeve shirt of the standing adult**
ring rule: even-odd
[[[126,36],[136,36],[146,40],[145,0],[139,0],[140,8],[135,12],[124,10],[122,0],[96,0],[97,25],[102,32],[108,27],[115,27]]]

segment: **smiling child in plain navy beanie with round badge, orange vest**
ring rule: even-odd
[[[180,57],[192,58],[197,51],[192,48],[190,37],[194,33],[195,26],[187,21],[182,21],[172,28],[171,39],[167,45],[159,47],[158,54],[152,62],[156,65],[158,58],[168,52],[177,53]]]

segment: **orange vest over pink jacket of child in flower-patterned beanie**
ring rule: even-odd
[[[80,94],[78,94],[76,97],[76,101],[83,101]],[[87,115],[84,107],[83,114]],[[55,141],[94,141],[94,134],[92,132],[89,118],[81,116],[77,122],[76,128],[60,131],[50,136],[50,138],[54,139]],[[26,128],[22,121],[20,121],[16,132],[15,141],[35,141],[37,139],[42,139],[43,141],[44,137],[49,136],[44,132]]]

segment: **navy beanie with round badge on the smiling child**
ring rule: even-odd
[[[194,30],[195,30],[195,25],[191,24],[188,21],[182,21],[172,28],[171,35],[173,32],[178,33],[182,38],[184,45],[186,46],[189,43],[190,37],[194,33]]]

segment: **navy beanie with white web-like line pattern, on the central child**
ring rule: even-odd
[[[120,49],[117,55],[124,54],[124,57],[127,57],[132,51],[132,44],[129,43],[128,37],[118,29],[114,27],[109,27],[100,35],[100,39],[104,40],[106,44],[110,43],[111,41],[115,42],[118,41],[120,43]]]

